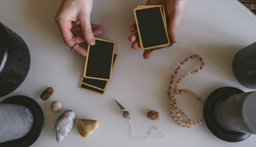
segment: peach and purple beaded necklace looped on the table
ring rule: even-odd
[[[174,77],[177,75],[177,73],[180,71],[180,68],[190,59],[194,59],[197,58],[199,59],[201,65],[200,68],[197,68],[196,70],[192,70],[191,72],[187,72],[184,73],[182,76],[180,76],[180,78],[177,79],[177,82],[174,84]],[[181,82],[181,80],[183,78],[185,78],[186,76],[190,75],[190,74],[195,74],[197,72],[200,72],[202,69],[204,68],[204,60],[201,58],[200,55],[192,55],[190,57],[187,57],[185,60],[183,60],[179,67],[175,69],[175,72],[173,73],[171,80],[170,80],[170,85],[169,85],[169,89],[168,89],[168,98],[170,99],[170,109],[169,112],[171,114],[171,116],[173,117],[173,120],[180,126],[183,128],[191,128],[192,125],[197,125],[197,124],[201,124],[202,121],[204,121],[204,118],[202,117],[199,121],[192,121],[192,119],[189,118],[188,115],[186,115],[185,112],[183,112],[182,110],[179,109],[178,104],[177,104],[177,100],[176,100],[176,96],[178,94],[182,94],[182,93],[190,93],[192,96],[195,96],[195,98],[198,101],[201,101],[202,104],[204,104],[205,100],[202,99],[201,97],[199,97],[193,90],[189,90],[189,89],[178,89],[178,85]],[[172,89],[174,90],[173,93]]]

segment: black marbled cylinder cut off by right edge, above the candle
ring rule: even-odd
[[[232,66],[236,79],[243,86],[256,89],[256,42],[238,51]]]

